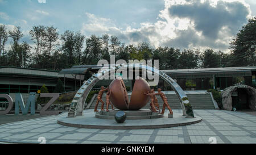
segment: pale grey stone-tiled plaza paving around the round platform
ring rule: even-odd
[[[174,110],[181,113],[181,110]],[[0,142],[39,143],[254,143],[256,116],[225,110],[194,110],[203,118],[196,124],[158,129],[86,129],[57,124],[58,116],[47,116],[0,125]],[[1,121],[1,120],[0,120]],[[143,121],[143,120],[142,120]]]

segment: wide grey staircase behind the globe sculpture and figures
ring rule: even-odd
[[[128,95],[128,96],[130,99],[131,95]],[[158,98],[159,107],[162,108],[163,100],[160,98],[159,95],[156,95],[156,97]],[[181,109],[180,100],[176,94],[167,94],[166,97],[172,109]],[[187,94],[187,97],[193,109],[215,109],[212,98],[210,97],[210,94]],[[102,100],[105,102],[106,100],[105,94],[102,96]],[[97,101],[97,97],[94,98],[92,104],[89,107],[90,109],[93,109],[95,107],[96,101]],[[104,108],[106,108],[105,104],[104,104]],[[100,109],[100,107],[101,107],[101,103],[98,104],[98,109]],[[150,102],[148,102],[146,106],[144,106],[143,108],[150,108]],[[109,109],[111,109],[111,106],[109,106]]]

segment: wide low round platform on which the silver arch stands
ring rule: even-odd
[[[173,118],[168,118],[165,112],[162,118],[157,119],[134,119],[125,120],[124,123],[117,123],[114,119],[96,118],[96,112],[93,110],[84,110],[82,116],[76,118],[67,118],[68,113],[64,114],[57,120],[58,124],[68,127],[77,128],[94,128],[94,129],[154,129],[170,128],[181,125],[189,125],[201,122],[202,118],[195,115],[195,118],[185,118],[182,113],[174,113]]]

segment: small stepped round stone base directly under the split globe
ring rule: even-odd
[[[163,118],[163,114],[159,114],[159,112],[152,112],[149,109],[140,109],[140,110],[109,110],[106,111],[98,111],[95,114],[96,118],[99,119],[113,119],[114,115],[117,114],[118,111],[123,111],[126,114],[127,119],[156,119],[156,118]]]

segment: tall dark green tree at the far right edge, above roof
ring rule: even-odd
[[[256,65],[256,17],[249,19],[230,43],[233,66]]]

